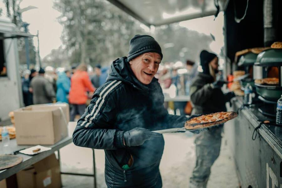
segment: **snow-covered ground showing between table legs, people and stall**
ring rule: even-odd
[[[73,132],[75,125],[69,127]],[[189,178],[195,166],[196,154],[192,133],[166,133],[165,150],[160,163],[163,187],[189,187]],[[93,173],[92,150],[77,147],[74,144],[60,150],[61,171],[75,173]],[[104,151],[95,149],[97,187],[106,188],[104,178]],[[93,187],[93,178],[86,176],[62,175],[64,187]],[[234,160],[227,141],[222,139],[219,158],[212,166],[208,188],[239,187]]]

